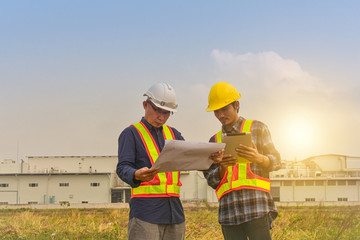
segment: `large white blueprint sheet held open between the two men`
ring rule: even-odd
[[[160,172],[207,170],[213,163],[209,156],[225,148],[225,143],[166,140],[152,168]]]

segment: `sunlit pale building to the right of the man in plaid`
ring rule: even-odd
[[[328,154],[288,161],[271,176],[276,201],[360,201],[360,157]]]

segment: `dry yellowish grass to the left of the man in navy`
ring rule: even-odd
[[[128,209],[2,210],[0,239],[126,239]]]

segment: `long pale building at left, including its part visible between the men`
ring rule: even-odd
[[[30,156],[0,163],[0,204],[129,202],[131,188],[116,174],[117,156]],[[201,172],[182,172],[183,201],[211,199]]]

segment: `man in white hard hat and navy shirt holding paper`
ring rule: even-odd
[[[145,116],[124,129],[118,141],[116,172],[131,186],[128,239],[184,239],[180,174],[151,169],[166,139],[184,140],[165,125],[178,106],[175,91],[168,83],[156,83],[144,96]]]

